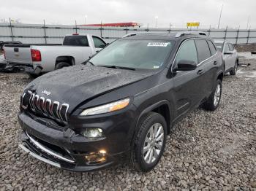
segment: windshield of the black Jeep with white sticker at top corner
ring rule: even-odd
[[[118,40],[105,47],[90,62],[95,66],[159,69],[173,47],[162,40]]]

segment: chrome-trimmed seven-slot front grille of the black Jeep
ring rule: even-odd
[[[35,113],[67,124],[67,110],[69,109],[69,104],[60,104],[59,101],[45,99],[31,91],[23,94],[20,104],[23,109],[31,109],[31,111]]]

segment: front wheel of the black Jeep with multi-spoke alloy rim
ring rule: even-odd
[[[167,123],[161,114],[150,112],[140,120],[139,125],[138,135],[135,137],[135,147],[130,155],[130,164],[138,171],[147,172],[151,171],[162,157],[167,136]],[[151,141],[151,137],[155,137],[154,135],[157,138]],[[151,142],[149,143],[149,141]],[[143,152],[143,148],[146,147],[146,152]]]

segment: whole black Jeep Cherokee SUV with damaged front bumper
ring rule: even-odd
[[[217,109],[222,76],[222,54],[206,34],[127,35],[27,85],[20,147],[71,171],[105,168],[124,154],[150,171],[175,122],[200,105]]]

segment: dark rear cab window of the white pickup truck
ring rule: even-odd
[[[63,45],[65,46],[78,46],[78,47],[89,47],[87,36],[65,36]]]

